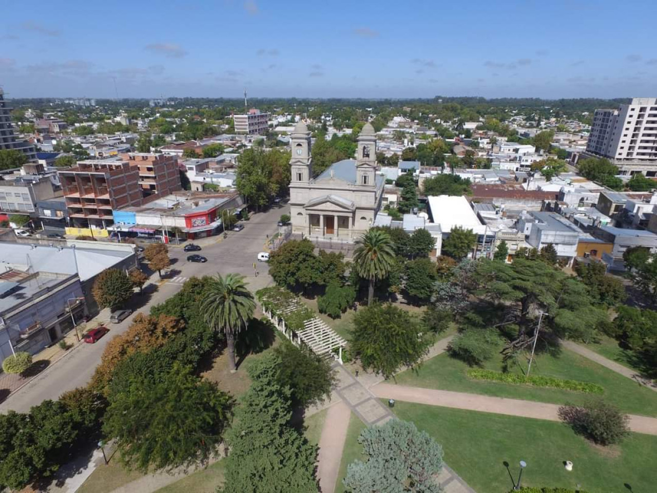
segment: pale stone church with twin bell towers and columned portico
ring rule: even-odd
[[[354,241],[374,223],[385,178],[376,173],[376,133],[365,124],[356,158],[338,161],[313,178],[311,138],[304,122],[290,137],[290,218],[292,233]]]

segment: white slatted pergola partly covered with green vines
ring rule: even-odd
[[[264,310],[265,315],[273,322],[279,331],[285,337],[290,339],[297,346],[301,343],[306,344],[315,354],[321,356],[334,356],[333,351],[338,350],[337,360],[342,364],[342,348],[346,346],[347,341],[340,337],[328,324],[315,316],[304,321],[304,328],[300,331],[290,329],[284,321],[286,314],[291,314],[302,308],[298,299],[290,300],[290,304],[279,310],[278,314],[273,314],[271,310]]]

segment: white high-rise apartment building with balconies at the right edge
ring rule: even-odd
[[[586,151],[612,160],[622,174],[657,176],[657,98],[595,110]]]

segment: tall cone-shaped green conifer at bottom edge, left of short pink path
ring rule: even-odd
[[[252,384],[242,396],[226,441],[223,493],[307,493],[317,490],[317,447],[290,426],[290,388],[279,383],[279,358],[269,353],[248,368]]]

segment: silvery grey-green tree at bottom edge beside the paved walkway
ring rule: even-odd
[[[443,467],[443,449],[414,423],[391,419],[365,429],[358,438],[367,461],[347,467],[343,480],[350,493],[440,493],[436,475]]]

